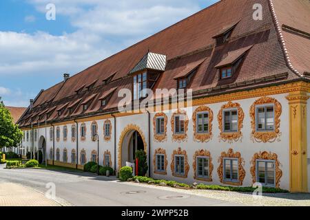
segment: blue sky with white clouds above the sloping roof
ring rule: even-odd
[[[0,1],[0,97],[26,107],[63,73],[76,74],[216,1]],[[48,3],[56,21],[45,19]]]

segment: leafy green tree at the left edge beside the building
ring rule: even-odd
[[[23,133],[14,124],[12,115],[4,106],[0,98],[0,149],[3,147],[17,147],[21,143]]]

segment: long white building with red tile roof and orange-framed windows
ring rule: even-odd
[[[218,1],[42,90],[19,120],[23,148],[116,171],[142,149],[156,179],[308,192],[309,21],[307,0]],[[123,113],[125,89],[136,110],[156,89],[187,102],[157,94],[166,111]]]

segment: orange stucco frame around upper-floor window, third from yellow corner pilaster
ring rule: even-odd
[[[209,133],[198,133],[197,132],[196,120],[197,120],[197,113],[199,112],[209,113]],[[211,140],[211,138],[213,137],[213,134],[212,134],[213,111],[205,105],[200,106],[194,111],[192,119],[193,119],[193,129],[194,129],[194,141],[209,142],[209,140]]]

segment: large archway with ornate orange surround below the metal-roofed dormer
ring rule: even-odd
[[[118,170],[125,166],[126,162],[133,162],[130,160],[134,159],[134,151],[141,148],[147,153],[147,142],[142,130],[136,124],[128,124],[118,141]]]

